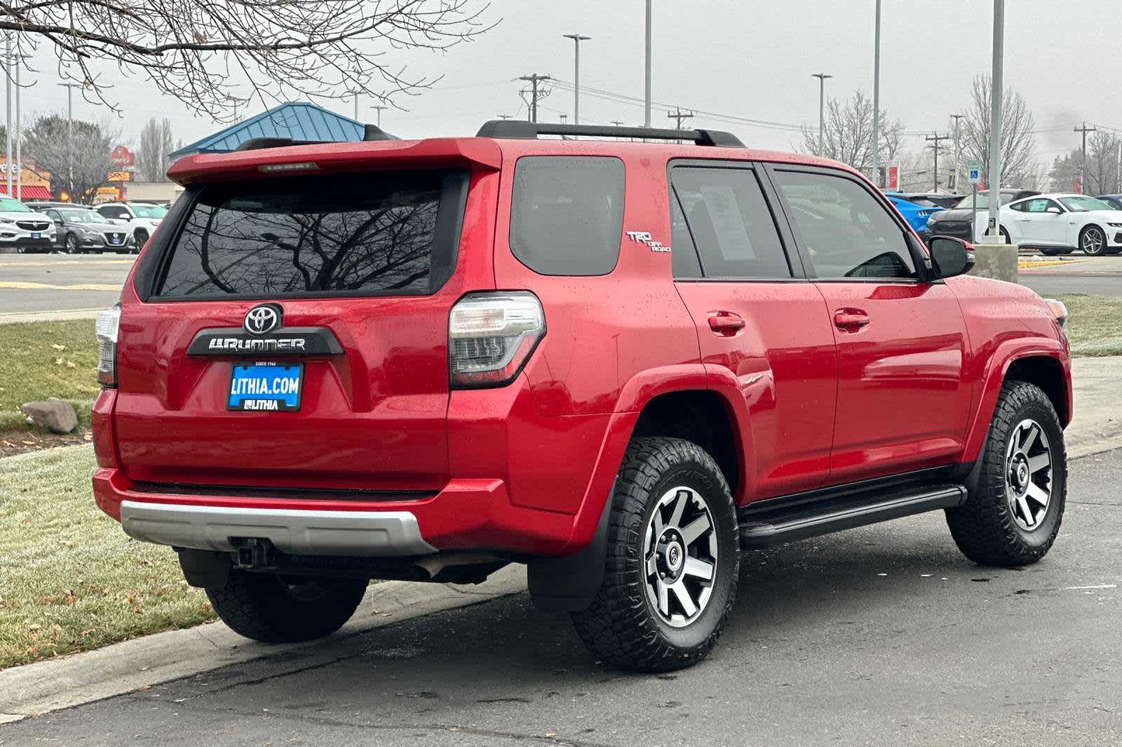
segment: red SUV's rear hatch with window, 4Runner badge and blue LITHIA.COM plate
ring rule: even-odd
[[[122,295],[114,424],[130,479],[447,482],[449,308],[494,287],[498,177],[454,153],[410,168],[402,148],[347,172],[307,148],[256,154],[297,151],[288,172],[249,168],[251,154],[188,165]]]

